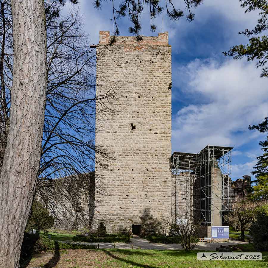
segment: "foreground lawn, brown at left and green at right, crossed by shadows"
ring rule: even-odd
[[[58,254],[32,258],[28,267],[268,267],[268,252],[262,261],[197,261],[197,251],[180,250],[63,250]]]

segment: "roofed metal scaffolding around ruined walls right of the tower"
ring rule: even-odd
[[[232,149],[208,145],[197,154],[172,154],[171,213],[176,222],[193,217],[200,225],[228,225]]]

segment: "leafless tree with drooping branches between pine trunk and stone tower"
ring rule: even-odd
[[[2,21],[12,25],[9,2],[4,7]],[[111,158],[107,148],[95,144],[95,114],[104,112],[109,119],[109,114],[116,111],[111,109],[113,105],[107,107],[105,103],[108,100],[111,104],[118,87],[111,85],[105,95],[97,94],[96,51],[89,46],[78,10],[62,16],[57,1],[46,3],[45,8],[47,100],[35,196],[43,200],[61,226],[89,228],[94,215],[95,191],[105,194],[100,178],[96,178],[95,187],[95,161],[102,165],[103,160]],[[6,94],[2,104],[7,121],[13,73],[12,32],[8,38],[3,47],[9,54],[3,64]],[[103,99],[106,101],[102,102]],[[5,126],[1,128],[4,134],[7,133]]]

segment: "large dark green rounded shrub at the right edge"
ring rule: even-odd
[[[268,214],[266,211],[255,216],[255,221],[251,224],[249,233],[254,240],[256,250],[268,251]]]

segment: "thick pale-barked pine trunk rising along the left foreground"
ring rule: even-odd
[[[43,0],[12,1],[10,129],[0,178],[0,267],[18,267],[39,168],[46,101]]]

